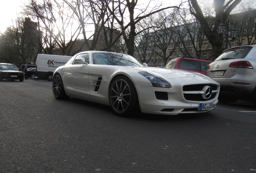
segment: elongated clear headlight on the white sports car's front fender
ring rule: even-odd
[[[151,74],[149,72],[138,72],[139,74],[145,76],[149,81],[151,82],[153,87],[161,87],[161,88],[170,88],[171,84],[169,84],[166,80],[163,78],[156,76],[154,74]]]

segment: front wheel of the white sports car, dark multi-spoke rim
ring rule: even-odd
[[[109,104],[112,111],[121,117],[128,117],[135,111],[139,111],[136,89],[127,76],[118,76],[111,82]]]

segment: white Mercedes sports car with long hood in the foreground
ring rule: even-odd
[[[132,56],[80,52],[53,76],[56,99],[75,97],[104,105],[119,116],[136,111],[177,115],[215,109],[219,83],[195,72],[147,67]]]

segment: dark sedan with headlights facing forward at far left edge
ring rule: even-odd
[[[0,63],[0,81],[4,79],[23,81],[23,72],[14,64]]]

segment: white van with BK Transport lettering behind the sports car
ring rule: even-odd
[[[36,76],[52,81],[52,75],[57,67],[62,66],[72,56],[38,54],[36,60]]]

